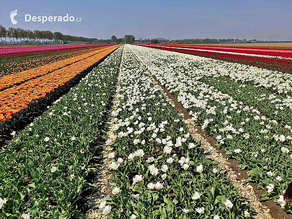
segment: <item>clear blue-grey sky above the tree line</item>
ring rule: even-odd
[[[292,40],[292,1],[279,0],[14,0],[0,3],[6,28],[59,31],[99,39],[132,34],[137,39],[239,38],[269,34]],[[10,12],[18,10],[13,25]],[[25,22],[24,15],[74,16],[82,22]]]

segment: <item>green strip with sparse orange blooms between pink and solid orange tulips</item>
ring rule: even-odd
[[[0,77],[91,52],[94,47],[0,56]]]

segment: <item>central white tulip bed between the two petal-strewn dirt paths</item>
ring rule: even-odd
[[[107,143],[113,219],[240,219],[251,210],[218,164],[203,156],[174,104],[126,45]]]

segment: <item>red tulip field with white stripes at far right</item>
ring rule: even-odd
[[[150,48],[163,49],[179,53],[199,55],[228,62],[256,66],[291,73],[292,49],[265,47],[227,47],[227,46],[197,46],[197,45],[154,45],[140,44]]]

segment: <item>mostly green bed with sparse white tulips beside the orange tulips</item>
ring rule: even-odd
[[[0,153],[0,218],[69,219],[103,135],[122,48],[82,79]]]

